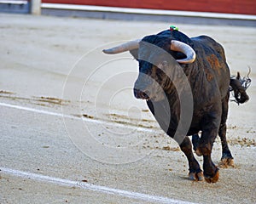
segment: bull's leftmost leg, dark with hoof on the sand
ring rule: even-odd
[[[199,163],[195,160],[192,152],[192,144],[189,137],[185,137],[182,144],[179,145],[185,156],[189,161],[189,179],[191,180],[203,180],[203,173],[199,166]]]

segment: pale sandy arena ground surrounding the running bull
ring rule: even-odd
[[[221,167],[218,183],[207,184],[187,178],[176,142],[145,102],[134,99],[137,62],[101,51],[169,24],[19,14],[0,19],[1,204],[256,203],[255,28],[176,25],[190,37],[205,34],[222,43],[232,74],[246,76],[252,68],[250,100],[230,102],[235,167]],[[218,164],[220,157],[216,139],[212,159]]]

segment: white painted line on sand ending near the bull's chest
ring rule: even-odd
[[[52,112],[52,111],[44,111],[40,109],[35,109],[35,108],[30,108],[30,107],[25,107],[25,106],[20,106],[20,105],[10,105],[6,103],[0,103],[0,106],[4,107],[9,107],[9,108],[14,108],[22,111],[30,111],[30,112],[36,112],[39,114],[44,114],[44,115],[49,115],[49,116],[59,116],[59,117],[66,117],[66,118],[71,118],[73,120],[83,120],[84,122],[92,122],[92,123],[100,123],[100,124],[106,124],[106,125],[114,125],[116,127],[125,127],[125,128],[132,128],[136,129],[137,131],[143,131],[143,132],[149,132],[149,133],[157,133],[155,130],[152,130],[152,128],[147,128],[147,127],[137,127],[137,126],[131,126],[129,124],[122,124],[122,123],[113,123],[113,122],[108,122],[108,121],[102,121],[102,120],[95,120],[95,119],[90,119],[87,117],[79,117],[79,116],[71,116],[63,113],[57,113],[57,112]]]

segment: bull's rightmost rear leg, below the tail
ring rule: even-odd
[[[221,139],[221,146],[222,146],[222,157],[221,161],[225,166],[234,166],[234,158],[231,155],[227,139],[226,139],[226,132],[227,132],[227,116],[229,110],[229,93],[224,98],[222,102],[222,116],[221,116],[221,124],[218,130],[218,135]]]

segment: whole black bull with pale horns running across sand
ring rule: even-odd
[[[217,135],[222,144],[221,160],[233,165],[226,141],[230,86],[236,101],[244,103],[248,99],[241,83],[230,79],[224,48],[211,37],[189,38],[180,31],[167,30],[103,50],[106,54],[125,51],[139,62],[135,97],[147,100],[160,127],[177,140],[189,161],[189,178],[217,182],[218,167],[211,158]],[[193,135],[195,153],[203,156],[203,172],[193,155],[189,135]]]

